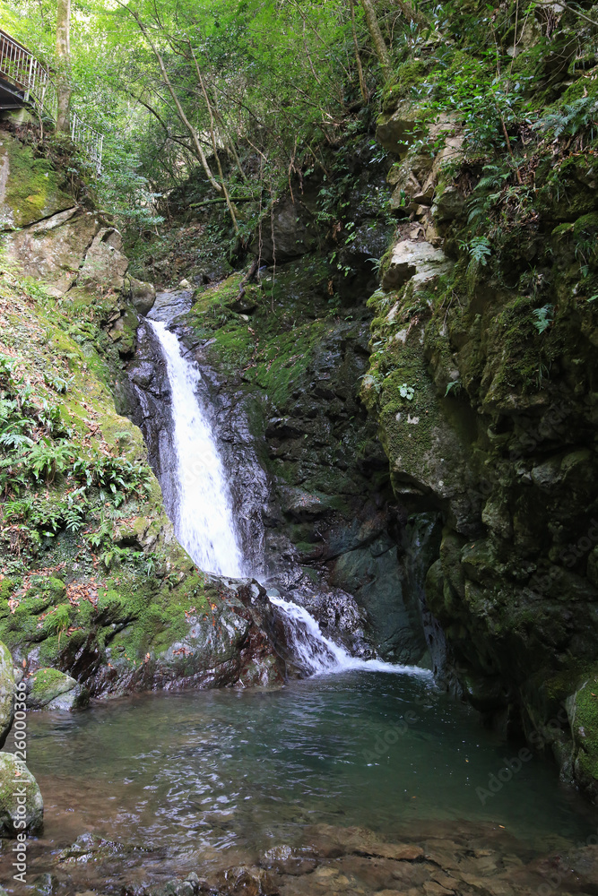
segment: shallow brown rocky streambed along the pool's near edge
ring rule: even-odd
[[[120,892],[135,896],[529,896],[538,893],[594,894],[598,874],[596,838],[591,845],[562,841],[538,854],[497,825],[419,823],[402,840],[381,840],[366,828],[329,824],[308,826],[304,840],[267,849],[262,855],[238,851],[187,857],[188,871],[166,883],[144,885],[131,869]],[[133,866],[134,850],[85,834],[56,857],[56,874],[42,874],[32,892],[68,892],[97,886],[105,892],[115,864]],[[138,857],[138,856],[137,856]],[[144,850],[146,874],[164,857]],[[83,866],[83,867],[82,867]],[[122,878],[121,878],[122,880]],[[74,890],[71,889],[71,892]]]

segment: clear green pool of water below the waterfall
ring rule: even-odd
[[[147,880],[222,851],[230,864],[255,860],[320,822],[392,838],[416,820],[480,820],[537,849],[554,835],[584,839],[598,823],[538,758],[482,806],[476,788],[517,748],[412,676],[360,671],[274,691],[145,694],[76,715],[32,713],[29,733],[46,804],[32,874],[51,870],[84,831],[150,850],[126,858]],[[382,752],[385,735],[394,743]],[[0,870],[2,861],[5,853]]]

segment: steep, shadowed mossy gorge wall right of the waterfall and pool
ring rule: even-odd
[[[594,70],[578,78],[569,92],[595,90]],[[408,94],[389,91],[378,126],[403,221],[369,300],[362,397],[397,501],[442,521],[426,595],[446,676],[595,797],[598,312],[580,243],[595,240],[598,167],[571,140],[536,141],[520,184],[507,156],[489,177],[463,117],[426,126]],[[477,261],[476,207],[491,235]]]

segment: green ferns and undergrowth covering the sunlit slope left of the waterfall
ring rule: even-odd
[[[10,324],[0,340],[0,572],[26,573],[65,549],[65,538],[91,563],[95,555],[106,567],[139,560],[143,552],[113,540],[119,521],[147,500],[151,472],[131,451],[126,421],[120,433],[120,418],[106,433],[96,422],[88,369],[102,362],[91,341],[83,351],[70,335],[84,322],[74,325],[56,300],[11,273],[0,306]]]

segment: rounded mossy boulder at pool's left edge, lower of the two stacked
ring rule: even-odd
[[[17,789],[25,791],[25,804],[17,803]],[[25,822],[23,828],[17,822]],[[44,821],[44,801],[38,782],[24,762],[12,753],[0,753],[0,837],[14,837],[17,831],[36,833]]]

